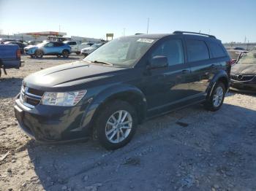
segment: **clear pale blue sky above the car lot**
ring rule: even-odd
[[[36,31],[114,38],[195,31],[222,42],[256,42],[255,0],[0,0],[2,34]]]

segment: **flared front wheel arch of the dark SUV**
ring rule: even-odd
[[[91,127],[91,121],[96,114],[100,106],[106,103],[106,101],[110,100],[116,95],[137,95],[142,100],[142,109],[143,113],[146,114],[146,97],[145,95],[137,88],[132,85],[113,85],[111,87],[107,87],[105,90],[99,92],[94,98],[91,98],[89,106],[86,108],[86,111],[83,114],[80,127],[81,128],[89,128]],[[145,117],[145,116],[143,116]]]

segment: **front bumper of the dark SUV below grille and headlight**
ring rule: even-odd
[[[89,103],[80,106],[45,106],[29,108],[15,100],[15,117],[19,127],[37,141],[86,139],[91,132]]]

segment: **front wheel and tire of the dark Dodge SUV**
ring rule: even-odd
[[[94,135],[105,149],[118,149],[124,147],[132,139],[137,122],[137,113],[133,106],[125,101],[113,101],[106,105],[97,116]]]

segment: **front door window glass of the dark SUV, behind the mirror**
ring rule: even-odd
[[[156,55],[165,55],[169,66],[184,63],[184,50],[181,39],[170,39],[163,42],[154,50],[151,58]]]

